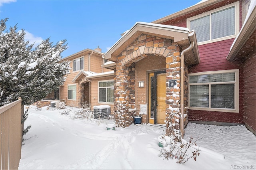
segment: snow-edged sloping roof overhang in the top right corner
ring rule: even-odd
[[[254,4],[253,4],[254,3]],[[256,6],[255,2],[251,2],[251,11],[248,10],[248,16],[240,30],[238,36],[230,47],[227,60],[234,61],[238,58],[247,57],[248,53],[255,51],[256,44]],[[250,13],[249,13],[250,12]]]

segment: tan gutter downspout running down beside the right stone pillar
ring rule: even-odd
[[[194,47],[195,43],[191,42],[189,47],[184,49],[180,53],[180,113],[181,113],[181,119],[180,119],[180,131],[181,131],[181,137],[183,138],[184,135],[184,53],[189,51]]]

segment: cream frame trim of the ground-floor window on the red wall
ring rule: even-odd
[[[224,109],[224,108],[205,108],[205,107],[189,107],[190,110],[200,110],[200,111],[219,111],[219,112],[232,112],[239,113],[239,69],[231,70],[220,70],[220,71],[205,71],[200,73],[189,73],[189,76],[192,75],[204,75],[204,74],[216,74],[216,73],[235,73],[235,83],[234,83],[234,109]],[[220,82],[220,83],[211,83],[211,84],[228,84],[229,82]],[[189,83],[188,84],[188,106],[190,106],[190,85],[204,85],[209,83]],[[209,94],[211,93],[209,89]],[[210,106],[209,106],[210,107]]]

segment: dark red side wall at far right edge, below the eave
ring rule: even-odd
[[[244,64],[244,123],[256,131],[256,52]]]

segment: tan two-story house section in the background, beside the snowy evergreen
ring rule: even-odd
[[[64,99],[66,105],[80,107],[93,103],[91,97],[94,87],[91,81],[86,79],[88,75],[111,71],[103,68],[104,59],[101,49],[84,49],[78,53],[63,58],[61,61],[70,62],[70,74],[67,75],[64,85],[59,89],[60,99]]]

